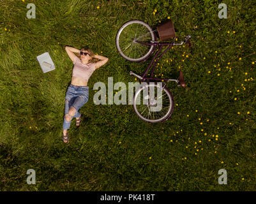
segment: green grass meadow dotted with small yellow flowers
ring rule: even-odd
[[[255,191],[255,3],[29,3],[36,6],[35,19],[26,18],[26,0],[0,3],[1,191]],[[220,3],[227,4],[227,19],[218,18]],[[156,68],[164,77],[181,68],[188,85],[168,84],[177,104],[170,119],[148,124],[132,105],[94,105],[94,83],[113,77],[128,87],[135,82],[130,70],[142,73],[149,64],[117,53],[119,27],[132,19],[155,27],[167,17],[178,40],[191,34],[193,43],[192,49],[171,49]],[[68,145],[61,135],[73,63],[64,45],[109,57],[89,80],[89,101],[80,108],[84,120],[79,129],[72,120]],[[36,56],[43,52],[56,70],[42,73]],[[36,185],[26,183],[31,168]],[[227,185],[218,184],[222,168]]]

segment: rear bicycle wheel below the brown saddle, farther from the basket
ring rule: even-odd
[[[146,122],[162,122],[172,114],[174,98],[167,87],[147,84],[135,92],[133,108],[140,119]]]

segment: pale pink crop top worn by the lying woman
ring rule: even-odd
[[[82,61],[77,56],[75,56],[73,64],[75,65],[72,76],[82,78],[83,80],[88,81],[93,71],[95,71],[95,63],[82,64]]]

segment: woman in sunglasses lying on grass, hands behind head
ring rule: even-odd
[[[109,61],[109,58],[101,55],[94,55],[89,48],[78,50],[73,47],[65,47],[65,50],[73,61],[72,81],[66,91],[65,98],[65,115],[63,122],[63,142],[68,143],[68,129],[70,128],[71,120],[76,118],[77,127],[80,126],[82,119],[79,109],[87,103],[89,99],[89,87],[87,86],[89,77],[91,77],[95,69],[100,68]],[[79,57],[73,54],[79,53]],[[94,59],[99,60],[94,62]]]

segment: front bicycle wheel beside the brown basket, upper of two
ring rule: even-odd
[[[155,41],[154,31],[142,20],[130,20],[124,23],[116,34],[116,47],[124,59],[139,62],[146,59],[153,52],[154,45],[142,45]]]

